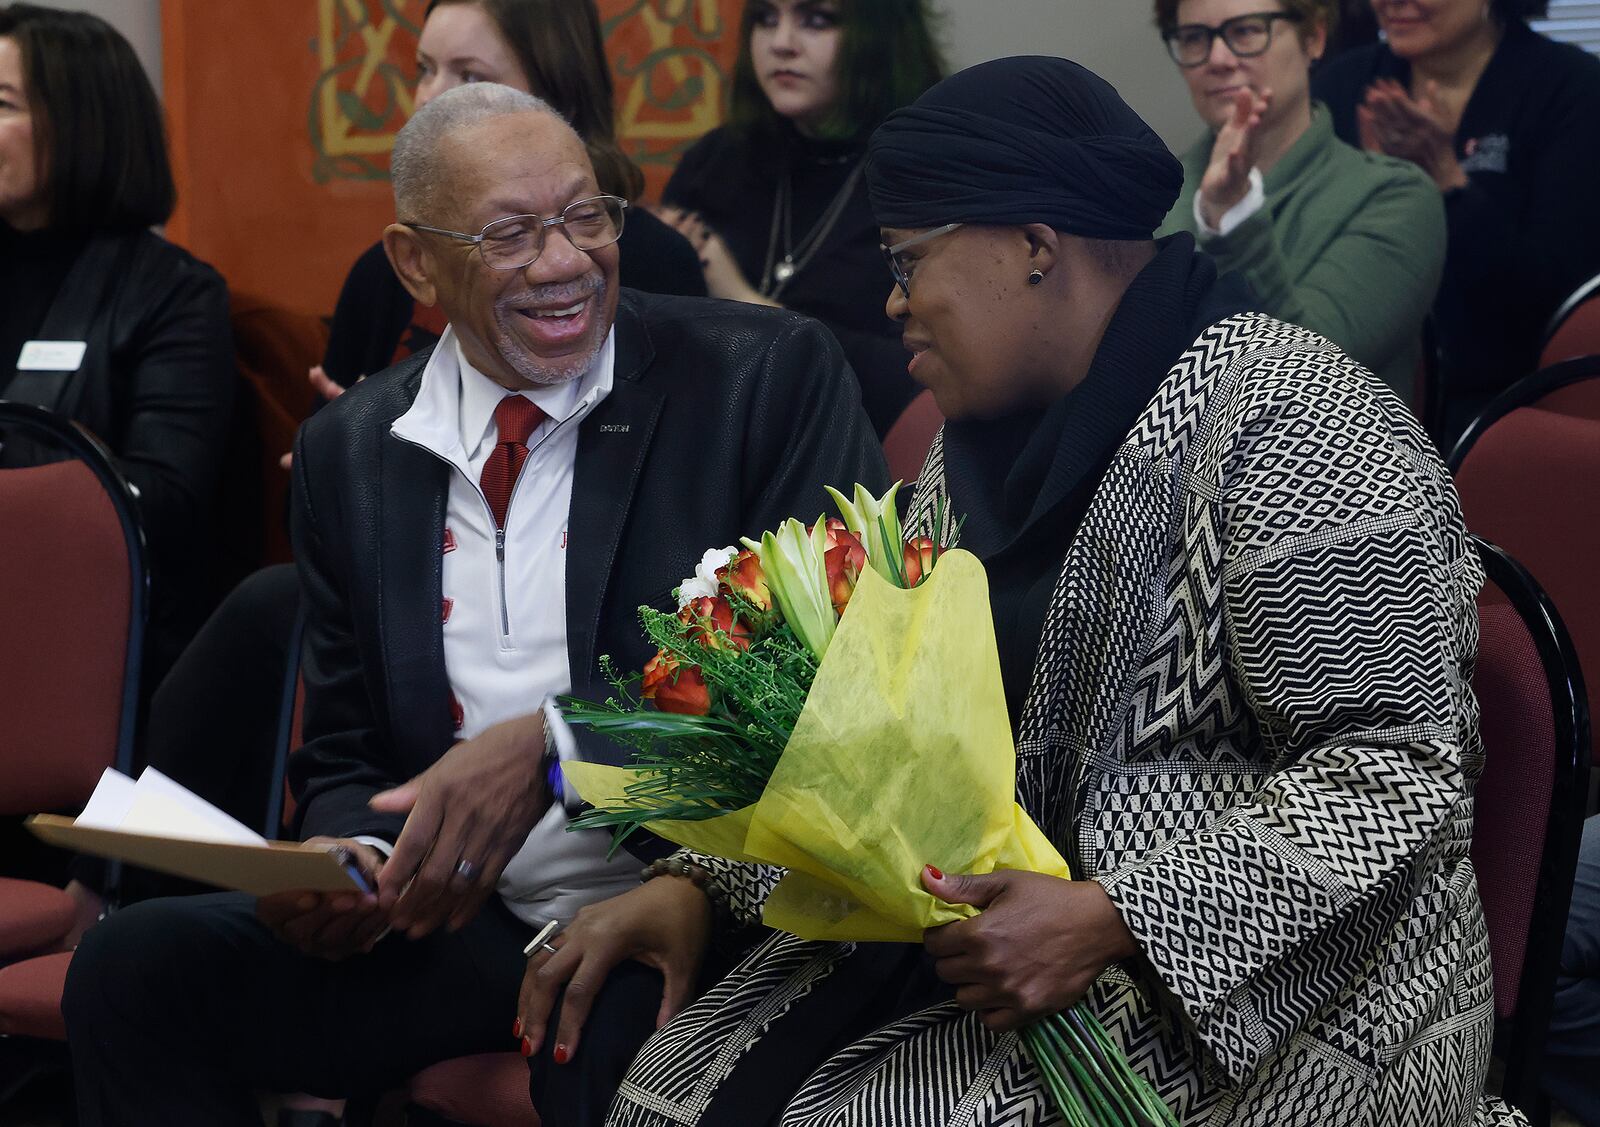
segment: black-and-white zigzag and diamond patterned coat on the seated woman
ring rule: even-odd
[[[944,490],[936,440],[912,527]],[[1525,1122],[1480,1098],[1480,583],[1427,437],[1306,330],[1213,325],[1114,458],[1046,616],[1018,799],[1139,940],[1090,1002],[1181,1122]],[[696,860],[744,919],[779,876]],[[766,940],[646,1042],[610,1122],[699,1122],[850,949]],[[1059,1119],[1016,1037],[950,1004],[835,1055],[781,1122]]]

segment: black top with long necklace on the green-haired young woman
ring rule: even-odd
[[[789,227],[802,242],[864,154],[864,142],[810,142],[794,133],[781,142],[742,142],[723,126],[683,154],[662,202],[698,211],[728,243],[750,285],[760,287],[784,170],[792,178]],[[920,387],[906,371],[910,355],[899,325],[883,312],[893,280],[878,242],[866,178],[858,176],[838,223],[779,301],[834,331],[861,381],[872,426],[883,435]]]

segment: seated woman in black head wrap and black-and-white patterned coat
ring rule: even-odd
[[[1152,240],[1182,171],[1072,62],[947,78],[867,181],[949,418],[910,522],[949,543],[965,517],[1018,797],[1078,879],[928,868],[982,911],[920,948],[766,938],[645,1044],[610,1122],[1058,1122],[1014,1031],[1085,996],[1179,1122],[1518,1122],[1480,1101],[1480,573],[1426,435],[1189,235]],[[778,876],[685,860],[741,922]],[[662,965],[627,917],[656,884],[605,908]],[[616,962],[582,916],[574,941]],[[581,1015],[525,1018],[582,1052]]]

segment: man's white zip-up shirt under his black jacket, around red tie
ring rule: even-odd
[[[478,477],[498,442],[494,407],[507,392],[474,368],[446,328],[422,370],[416,402],[390,432],[450,463],[445,512],[445,674],[456,736],[526,716],[571,688],[566,655],[566,519],[573,499],[578,426],[611,392],[616,330],[576,379],[518,394],[546,415],[528,437],[528,461],[496,536]],[[554,725],[570,740],[565,725]],[[506,866],[499,895],[523,920],[570,920],[579,908],[638,884],[638,861],[606,861],[611,834],[570,834],[555,804]],[[482,863],[482,858],[466,858]]]

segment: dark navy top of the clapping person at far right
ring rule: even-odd
[[[1376,78],[1410,85],[1411,64],[1374,43],[1314,80],[1350,144]],[[1550,315],[1600,272],[1600,59],[1507,27],[1462,110],[1456,157],[1469,184],[1445,194],[1450,247],[1434,307],[1446,442],[1538,367]]]

